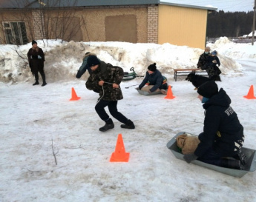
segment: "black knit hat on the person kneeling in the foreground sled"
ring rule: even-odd
[[[198,87],[197,92],[205,98],[211,98],[213,95],[217,94],[218,87],[214,81],[207,81]]]

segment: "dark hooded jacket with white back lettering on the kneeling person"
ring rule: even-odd
[[[243,146],[243,126],[230,104],[231,99],[223,88],[203,104],[206,117],[203,132],[198,136],[200,144],[194,152],[198,157],[208,149],[223,157],[234,156]]]

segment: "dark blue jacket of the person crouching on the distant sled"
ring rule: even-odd
[[[148,81],[150,85],[154,85],[154,87],[152,87],[150,90],[151,92],[154,92],[158,88],[163,89],[163,75],[160,73],[159,70],[154,71],[154,73],[152,74],[149,74],[147,72],[145,74],[145,78],[139,86],[139,89],[142,89],[142,87],[144,87]]]

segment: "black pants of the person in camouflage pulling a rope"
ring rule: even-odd
[[[121,123],[125,124],[128,121],[128,118],[126,118],[122,113],[118,112],[117,110],[117,101],[105,101],[105,100],[100,100],[96,106],[95,110],[99,117],[102,119],[102,121],[107,121],[109,118],[109,115],[105,111],[105,107],[108,106],[108,110],[111,113],[111,115],[116,118],[118,121]]]

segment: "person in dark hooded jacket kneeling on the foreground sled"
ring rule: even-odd
[[[198,135],[200,144],[194,153],[184,155],[189,164],[198,159],[207,164],[232,169],[243,169],[246,156],[243,146],[243,126],[230,107],[231,99],[223,90],[218,91],[214,81],[207,81],[197,90],[205,109],[203,132]]]

